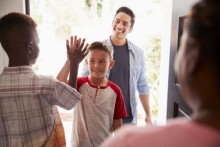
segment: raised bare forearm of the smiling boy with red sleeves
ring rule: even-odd
[[[57,75],[57,79],[61,82],[67,82],[67,77],[70,72],[70,62],[67,60]]]

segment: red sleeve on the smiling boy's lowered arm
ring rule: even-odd
[[[113,82],[109,81],[109,83],[110,83],[111,88],[115,91],[117,95],[116,103],[115,103],[115,110],[114,110],[114,119],[127,117],[127,111],[125,108],[124,97],[121,92],[121,89]]]

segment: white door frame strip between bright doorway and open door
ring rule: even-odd
[[[163,10],[163,31],[161,34],[161,62],[160,62],[160,95],[158,99],[158,119],[159,125],[166,123],[167,114],[167,94],[168,94],[168,73],[170,57],[170,36],[172,19],[172,0],[162,0]]]

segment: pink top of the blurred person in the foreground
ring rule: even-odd
[[[178,118],[166,126],[126,126],[101,147],[220,147],[220,132]]]

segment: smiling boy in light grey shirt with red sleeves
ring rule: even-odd
[[[83,98],[74,110],[71,146],[97,147],[122,126],[127,113],[120,88],[106,78],[114,65],[113,50],[102,42],[93,42],[85,61],[90,74],[77,80]],[[59,80],[66,81],[69,66],[67,60],[57,76]]]

